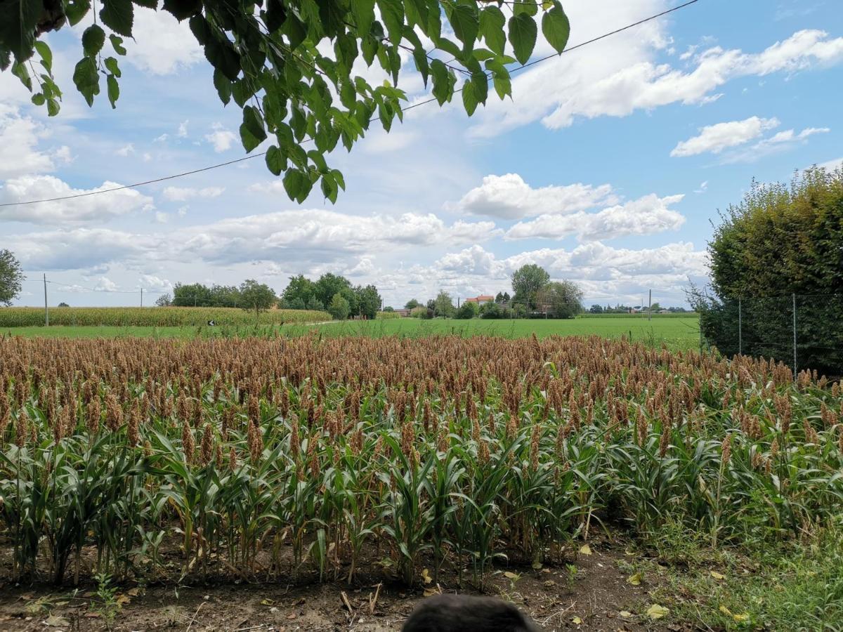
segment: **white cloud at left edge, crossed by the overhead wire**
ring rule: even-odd
[[[106,181],[94,189],[73,189],[61,179],[51,175],[24,175],[7,180],[0,189],[0,200],[19,202],[50,199],[113,189],[121,186]],[[42,202],[26,206],[0,207],[0,219],[10,222],[74,224],[105,222],[136,211],[153,208],[153,199],[134,189],[123,189],[101,195],[88,195],[72,200]]]

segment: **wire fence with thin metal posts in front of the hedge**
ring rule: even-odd
[[[843,375],[843,294],[788,294],[712,301],[701,311],[703,335],[727,356],[744,354]]]

